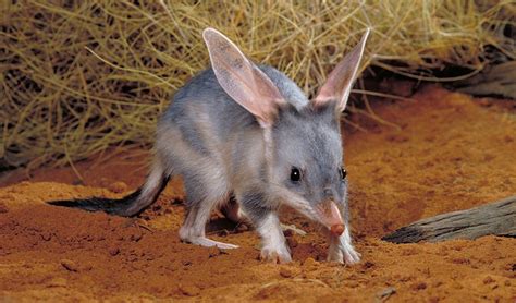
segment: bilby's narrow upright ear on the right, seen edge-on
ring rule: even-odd
[[[314,99],[316,106],[325,105],[329,101],[336,101],[335,110],[342,112],[346,108],[347,98],[352,90],[355,76],[360,64],[360,59],[364,53],[367,37],[370,29],[361,37],[360,43],[344,57],[344,59],[330,73],[327,82],[319,89],[319,94]]]

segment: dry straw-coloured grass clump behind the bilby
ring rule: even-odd
[[[0,157],[63,165],[153,140],[170,96],[208,65],[201,31],[225,33],[312,94],[366,27],[363,64],[419,78],[480,71],[490,45],[515,57],[515,4],[405,1],[3,1]],[[460,77],[465,77],[464,75]]]

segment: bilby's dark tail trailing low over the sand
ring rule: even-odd
[[[145,184],[134,193],[122,198],[89,197],[71,201],[52,201],[48,204],[81,208],[88,211],[105,211],[111,215],[131,217],[144,211],[158,199],[169,182],[162,167],[155,166]]]

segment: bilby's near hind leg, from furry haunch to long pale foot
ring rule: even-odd
[[[176,101],[174,101],[176,104]],[[157,149],[167,159],[167,166],[181,177],[186,191],[186,218],[180,238],[202,246],[235,249],[236,245],[206,238],[206,223],[211,211],[225,203],[230,186],[223,154],[207,112],[192,107],[179,108],[181,114],[163,119],[158,125]]]

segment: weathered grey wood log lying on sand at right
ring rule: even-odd
[[[416,221],[382,238],[394,243],[477,239],[494,234],[516,238],[516,196],[479,207]]]

